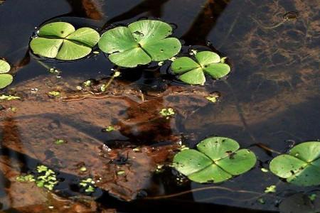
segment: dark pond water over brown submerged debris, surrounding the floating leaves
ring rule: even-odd
[[[287,197],[318,193],[261,168],[297,143],[319,140],[319,9],[319,0],[0,1],[0,57],[14,74],[0,93],[21,97],[0,100],[1,212],[278,212]],[[169,62],[151,64],[121,70],[101,94],[117,68],[104,54],[59,62],[28,50],[46,22],[104,32],[141,18],[171,23],[183,53],[227,56],[230,75],[190,86],[168,73]],[[213,92],[218,102],[204,98]],[[167,107],[176,111],[170,119],[159,116]],[[167,166],[181,143],[193,148],[208,136],[235,139],[255,152],[257,165],[219,184],[188,181]],[[37,165],[55,171],[52,191],[16,181]],[[93,193],[78,185],[87,178]],[[266,194],[270,185],[277,192]]]

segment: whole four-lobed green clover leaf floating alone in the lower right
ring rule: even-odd
[[[174,168],[195,182],[223,182],[247,172],[257,161],[252,151],[239,148],[230,138],[207,138],[198,143],[198,150],[177,153]]]

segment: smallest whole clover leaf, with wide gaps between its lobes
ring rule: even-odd
[[[230,66],[220,59],[217,53],[210,51],[198,52],[195,60],[188,57],[177,58],[171,65],[175,74],[180,75],[179,79],[187,84],[201,84],[206,82],[205,74],[213,79],[219,79],[228,75]]]

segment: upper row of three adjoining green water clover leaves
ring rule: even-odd
[[[150,62],[163,62],[177,55],[181,43],[170,37],[172,28],[157,20],[142,20],[128,26],[112,28],[102,34],[92,28],[79,28],[66,22],[48,23],[42,26],[30,47],[33,53],[58,60],[76,60],[92,52],[98,43],[100,50],[108,54],[112,63],[120,67],[137,67]],[[206,82],[206,75],[219,79],[228,75],[229,65],[224,58],[210,51],[196,52],[194,60],[181,57],[174,60],[172,71],[188,84]]]

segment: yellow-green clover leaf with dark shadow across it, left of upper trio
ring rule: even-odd
[[[89,55],[100,39],[92,28],[79,28],[66,22],[48,23],[30,43],[36,55],[59,60],[76,60]]]

